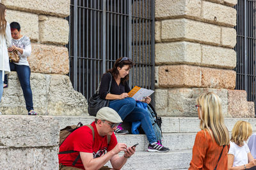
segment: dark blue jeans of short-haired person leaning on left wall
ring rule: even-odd
[[[24,66],[24,65],[17,65],[10,62],[10,69],[11,71],[16,71],[18,74],[18,78],[20,81],[20,86],[23,91],[23,95],[26,102],[26,109],[28,111],[34,110],[33,108],[33,96],[32,96],[32,90],[30,87],[30,67]],[[4,76],[4,83],[8,83],[7,74]],[[2,85],[3,87],[3,85]]]

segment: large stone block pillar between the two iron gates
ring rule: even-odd
[[[195,99],[213,91],[225,117],[254,117],[236,87],[236,0],[156,0],[156,110],[197,116]]]

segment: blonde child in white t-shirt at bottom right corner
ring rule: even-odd
[[[256,169],[256,159],[253,159],[248,145],[244,142],[252,135],[252,125],[238,121],[232,129],[230,149],[228,151],[228,170]]]

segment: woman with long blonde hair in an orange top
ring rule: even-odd
[[[227,169],[229,134],[220,97],[209,92],[196,99],[202,131],[196,134],[189,169]]]

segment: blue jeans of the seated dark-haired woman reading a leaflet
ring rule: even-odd
[[[109,108],[115,110],[125,122],[140,121],[148,142],[154,143],[157,141],[147,110],[136,107],[136,101],[133,98],[127,97],[121,100],[109,101]]]

